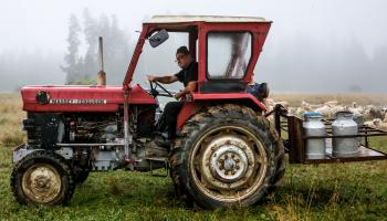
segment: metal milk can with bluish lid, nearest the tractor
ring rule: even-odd
[[[306,136],[326,136],[323,116],[318,113],[305,113],[302,126]],[[306,158],[321,159],[325,157],[325,138],[306,139]]]

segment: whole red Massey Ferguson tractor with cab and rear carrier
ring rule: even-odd
[[[177,191],[187,199],[211,209],[247,207],[281,181],[285,148],[296,164],[357,160],[308,159],[305,139],[316,137],[304,136],[302,120],[278,106],[272,124],[259,97],[247,93],[270,25],[261,18],[154,17],[143,24],[123,86],[23,87],[28,144],[13,151],[15,199],[66,203],[90,171],[149,171],[168,165]],[[197,92],[186,96],[177,116],[177,138],[166,149],[155,141],[161,112],[157,97],[172,93],[158,84],[144,90],[130,82],[144,44],[157,46],[171,32],[187,33],[198,81]],[[289,133],[285,143],[282,128]]]

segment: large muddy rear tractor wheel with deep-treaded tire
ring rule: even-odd
[[[263,116],[239,105],[209,107],[182,127],[170,157],[181,196],[205,208],[248,207],[280,183],[284,150]]]

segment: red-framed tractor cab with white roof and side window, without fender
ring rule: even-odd
[[[261,18],[153,17],[143,24],[124,87],[132,82],[144,43],[149,41],[156,48],[168,39],[168,33],[177,32],[187,33],[189,51],[198,62],[198,95],[194,95],[195,98],[199,98],[199,94],[244,93],[270,25],[271,21]],[[151,62],[147,64],[151,65]]]

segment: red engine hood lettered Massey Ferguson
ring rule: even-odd
[[[119,86],[25,86],[21,90],[28,112],[116,112],[124,103]],[[129,88],[129,104],[156,104],[138,84]]]

